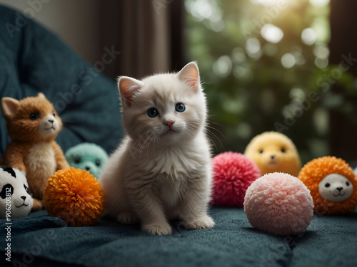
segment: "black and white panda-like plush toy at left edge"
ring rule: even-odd
[[[27,216],[33,204],[34,199],[24,172],[0,166],[0,218]]]

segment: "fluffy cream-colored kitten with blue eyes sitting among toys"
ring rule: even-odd
[[[123,224],[139,219],[150,234],[171,234],[168,219],[175,218],[187,229],[213,227],[206,98],[196,63],[144,80],[121,77],[118,86],[126,137],[100,174],[106,213]]]

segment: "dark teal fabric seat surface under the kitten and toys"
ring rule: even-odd
[[[352,216],[314,215],[304,234],[286,237],[253,229],[241,208],[213,206],[209,214],[213,229],[186,231],[171,221],[173,234],[153,236],[139,224],[111,219],[67,227],[37,211],[12,220],[11,252],[20,263],[30,253],[81,266],[356,266],[357,210]],[[4,235],[0,244],[6,247]]]

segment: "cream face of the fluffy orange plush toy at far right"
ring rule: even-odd
[[[328,174],[318,184],[321,197],[333,202],[341,202],[351,197],[353,185],[349,179],[341,174]]]

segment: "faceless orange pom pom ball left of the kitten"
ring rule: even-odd
[[[88,171],[61,169],[44,189],[44,206],[49,216],[63,219],[68,226],[91,226],[104,214],[105,196],[101,184]]]

